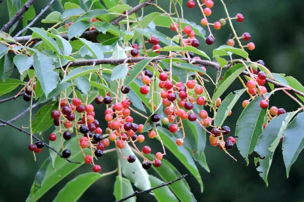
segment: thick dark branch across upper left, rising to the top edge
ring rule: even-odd
[[[130,11],[128,11],[128,15],[131,15],[133,13],[138,12],[138,10],[142,9],[145,6],[148,6],[149,3],[153,2],[153,1],[154,0],[146,0],[145,2],[137,5],[136,7],[134,7]],[[110,24],[112,24],[112,25],[118,25],[118,23],[121,20],[123,20],[124,18],[126,18],[126,16],[125,15],[121,15],[121,16],[117,17],[116,19],[114,19],[112,22],[110,22]],[[97,34],[99,34],[99,32],[97,30],[85,31],[80,37],[88,39],[88,38],[90,38],[90,37],[92,37],[94,35],[97,35]],[[64,38],[64,39],[68,39],[67,34],[60,34],[60,36],[62,38]],[[15,39],[15,41],[17,41],[19,43],[25,43],[25,42],[27,42],[29,40],[32,40],[32,41],[40,41],[41,40],[41,38],[32,38],[31,35],[15,37],[14,39]]]

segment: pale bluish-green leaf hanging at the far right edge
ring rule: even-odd
[[[295,162],[301,150],[304,148],[303,120],[304,113],[299,113],[284,131],[282,149],[287,177],[289,177],[289,171],[292,164]]]

